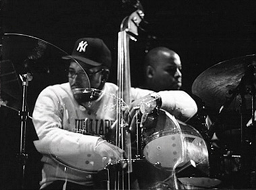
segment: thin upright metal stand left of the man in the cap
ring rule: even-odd
[[[20,187],[24,189],[25,183],[25,168],[26,168],[26,160],[28,158],[28,154],[26,154],[26,127],[28,120],[28,109],[27,109],[27,93],[28,93],[28,82],[32,81],[32,75],[30,73],[26,73],[24,75],[20,75],[20,79],[22,81],[22,109],[19,111],[20,115],[20,152],[17,154],[18,164],[20,165]],[[20,174],[19,173],[19,174]]]

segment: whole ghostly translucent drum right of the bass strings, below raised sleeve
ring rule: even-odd
[[[160,109],[157,120],[156,128],[143,135],[143,155],[146,160],[167,170],[193,162],[195,167],[209,173],[207,146],[199,132],[192,126],[178,122],[163,109]]]

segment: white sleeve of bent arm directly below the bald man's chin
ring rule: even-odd
[[[186,122],[197,113],[197,104],[185,91],[160,91],[162,109],[165,109],[178,120]]]

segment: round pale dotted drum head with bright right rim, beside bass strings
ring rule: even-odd
[[[185,155],[181,128],[174,116],[162,109],[157,120],[156,128],[146,134],[143,155],[158,167],[174,169]]]

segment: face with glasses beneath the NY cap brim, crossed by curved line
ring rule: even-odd
[[[84,69],[86,70],[87,75],[84,72]],[[95,66],[84,69],[76,62],[71,62],[68,75],[71,89],[86,89],[89,87],[99,89],[102,83],[101,72],[103,68],[101,66]]]

